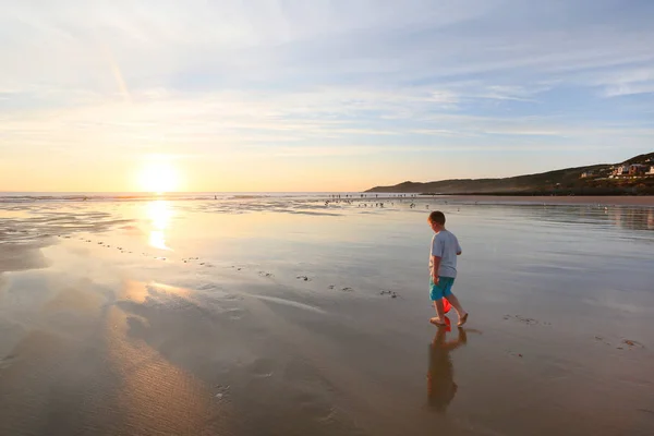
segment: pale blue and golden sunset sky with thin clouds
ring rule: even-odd
[[[654,150],[651,0],[0,11],[0,191],[360,191]]]

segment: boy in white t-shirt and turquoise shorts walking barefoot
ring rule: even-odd
[[[427,222],[434,230],[432,239],[432,253],[429,254],[429,296],[436,308],[436,317],[429,322],[438,327],[445,327],[445,313],[443,299],[446,298],[459,315],[461,327],[468,320],[468,312],[463,311],[461,303],[452,293],[452,284],[457,277],[457,256],[461,255],[461,245],[453,233],[445,229],[445,215],[435,210],[429,214]]]

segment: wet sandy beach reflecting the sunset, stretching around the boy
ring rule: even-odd
[[[0,435],[651,435],[641,198],[2,203]]]

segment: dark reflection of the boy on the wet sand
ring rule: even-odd
[[[449,319],[446,317],[447,327],[438,328],[434,341],[429,346],[429,371],[427,373],[427,399],[432,408],[445,412],[457,393],[455,383],[455,368],[450,359],[450,351],[464,346],[468,341],[465,330],[459,328],[456,340],[446,341],[446,335],[451,330]]]

